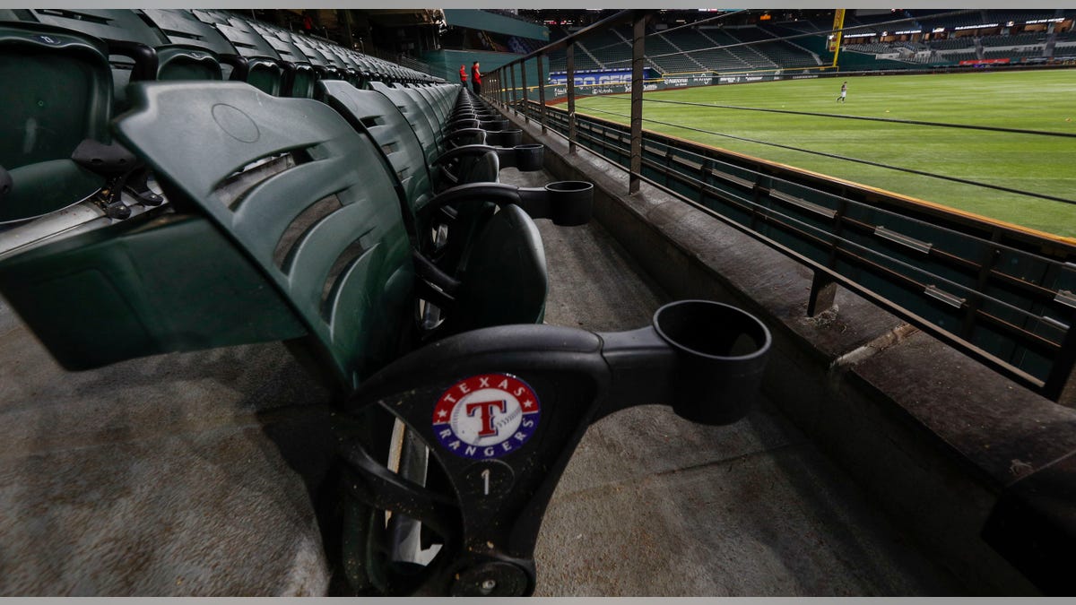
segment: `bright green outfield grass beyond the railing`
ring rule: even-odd
[[[837,103],[841,81],[848,100]],[[888,117],[1076,135],[1076,70],[856,76],[647,93],[643,128],[691,139],[1066,237],[1076,205],[964,185],[732,139],[955,177],[1076,201],[1076,138],[847,119]],[[651,101],[704,103],[711,107]],[[713,104],[829,113],[833,117]],[[582,99],[578,111],[627,123],[625,96]],[[1066,122],[1070,118],[1071,122]],[[665,122],[695,129],[655,124]]]

